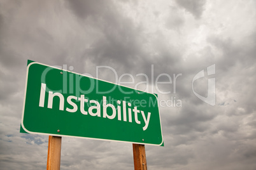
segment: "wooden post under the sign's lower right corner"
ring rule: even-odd
[[[146,170],[145,145],[132,143],[134,170]]]

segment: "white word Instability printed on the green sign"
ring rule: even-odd
[[[40,91],[40,98],[39,98],[39,107],[45,107],[45,90],[46,89],[46,84],[45,83],[41,83],[41,91]],[[53,93],[52,91],[48,92],[48,105],[47,108],[52,108],[53,105],[53,97],[54,96],[58,96],[59,97],[59,110],[64,110],[64,96],[61,93]],[[73,100],[73,101],[72,101]],[[88,100],[87,98],[85,98],[85,95],[80,95],[80,98],[77,98],[76,96],[68,96],[67,101],[69,103],[69,105],[71,105],[73,108],[69,108],[66,107],[66,111],[67,112],[76,112],[78,110],[78,106],[76,105],[76,103],[74,102],[74,100],[79,100],[80,101],[80,112],[83,115],[91,115],[91,116],[96,116],[97,117],[101,117],[101,103],[103,103],[103,118],[108,118],[108,119],[115,119],[115,117],[117,116],[118,121],[122,121],[122,114],[121,114],[121,107],[123,110],[123,121],[127,122],[127,110],[126,107],[128,105],[128,119],[129,122],[132,122],[132,115],[134,116],[135,122],[137,124],[141,124],[141,121],[138,120],[138,114],[141,114],[143,117],[143,121],[145,122],[145,126],[143,127],[143,131],[145,131],[148,128],[148,124],[150,121],[150,115],[151,113],[148,112],[147,117],[144,113],[143,110],[138,110],[137,107],[133,107],[133,108],[129,108],[131,107],[131,103],[127,103],[126,101],[122,101],[122,106],[121,101],[117,100],[118,106],[117,108],[115,108],[114,105],[112,105],[111,103],[107,104],[107,100],[106,100],[106,96],[103,96],[103,102],[97,101],[97,100]],[[94,105],[90,106],[88,108],[87,111],[85,111],[85,102],[87,103],[94,103]],[[107,108],[111,108],[112,112],[111,115],[110,113],[107,112],[107,110],[109,111],[110,109]],[[93,112],[94,110],[94,112]],[[95,112],[96,110],[96,112]],[[133,112],[133,114],[132,114]]]

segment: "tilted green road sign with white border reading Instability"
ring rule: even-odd
[[[156,95],[30,60],[20,132],[163,143]]]

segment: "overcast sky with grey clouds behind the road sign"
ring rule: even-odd
[[[0,169],[46,169],[48,136],[19,133],[29,59],[94,77],[97,66],[135,82],[148,75],[148,91],[173,102],[160,107],[165,147],[146,145],[148,169],[254,170],[255,20],[253,0],[1,0]],[[192,80],[214,64],[214,75],[194,81],[207,96],[215,77],[211,106]],[[180,74],[158,87],[171,93],[154,87],[160,74]],[[110,69],[98,75],[116,81]],[[132,144],[64,137],[61,169],[133,169]]]

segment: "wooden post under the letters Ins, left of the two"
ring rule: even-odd
[[[48,141],[48,157],[47,157],[47,170],[60,169],[60,150],[61,150],[61,137],[49,136]]]

